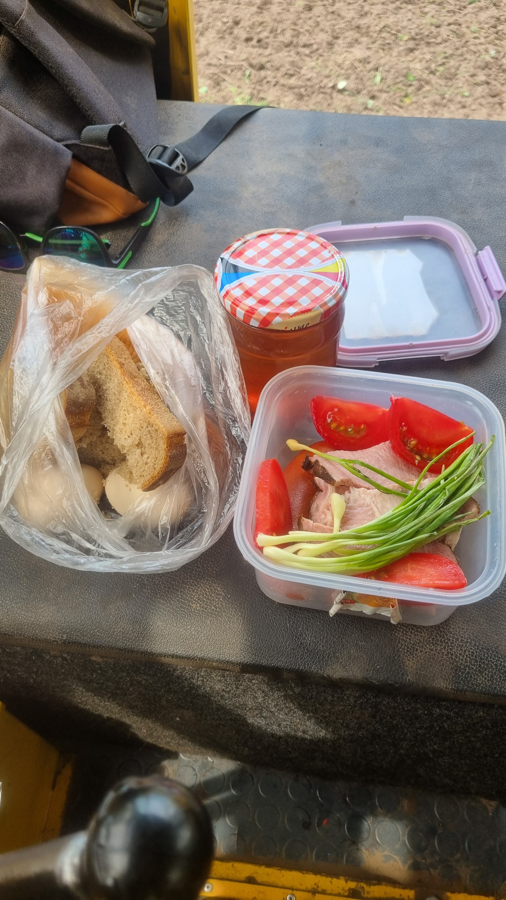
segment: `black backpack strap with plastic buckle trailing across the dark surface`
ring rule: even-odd
[[[259,109],[263,107],[226,106],[192,138],[177,147],[157,144],[146,156],[122,125],[88,125],[81,143],[112,148],[131,191],[142,202],[159,197],[167,206],[176,206],[194,190],[187,173],[202,163],[239,121]]]

